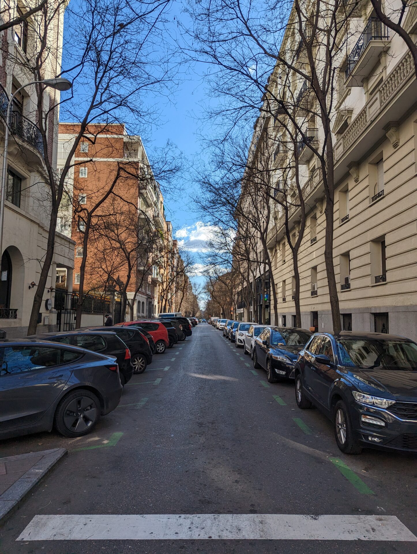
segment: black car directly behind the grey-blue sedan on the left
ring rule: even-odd
[[[108,327],[106,328],[108,329]],[[114,356],[119,365],[120,381],[124,386],[133,375],[131,353],[125,343],[111,331],[61,331],[32,335],[39,341],[53,341],[60,344],[74,345],[105,356]]]

